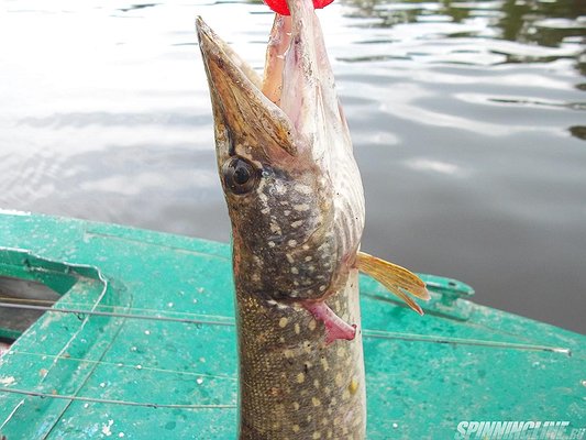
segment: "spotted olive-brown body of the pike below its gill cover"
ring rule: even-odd
[[[358,322],[357,274],[330,301]],[[237,286],[241,439],[363,439],[362,337],[327,344],[322,322]]]

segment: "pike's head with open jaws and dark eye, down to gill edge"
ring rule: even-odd
[[[201,19],[236,288],[309,307],[345,285],[364,196],[311,0],[276,15],[264,78]]]

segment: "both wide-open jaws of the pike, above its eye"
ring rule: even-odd
[[[321,164],[332,144],[352,142],[313,2],[288,6],[290,15],[275,15],[263,78],[197,18],[217,134],[243,134],[245,144],[257,139],[273,160],[286,153]]]

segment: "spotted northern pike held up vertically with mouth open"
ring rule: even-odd
[[[242,440],[364,439],[358,270],[422,314],[409,271],[360,252],[364,194],[311,0],[276,14],[264,78],[201,20],[232,223]]]

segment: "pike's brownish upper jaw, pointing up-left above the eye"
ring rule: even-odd
[[[259,75],[201,16],[196,20],[196,29],[208,76],[217,139],[229,138],[231,147],[243,146],[246,151],[237,153],[252,155],[254,160],[296,156],[291,121],[263,94]]]

